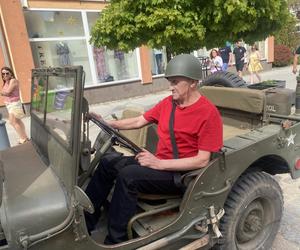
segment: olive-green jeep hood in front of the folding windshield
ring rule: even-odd
[[[47,231],[64,221],[69,201],[51,166],[32,142],[0,152],[1,225],[13,249],[21,237]]]

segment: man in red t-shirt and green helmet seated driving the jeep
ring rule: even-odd
[[[86,213],[85,218],[91,232],[115,182],[105,244],[128,240],[127,224],[136,213],[139,192],[182,194],[184,186],[178,176],[207,166],[211,153],[221,149],[221,117],[217,108],[197,89],[201,79],[199,69],[201,64],[196,57],[175,56],[165,72],[170,96],[138,117],[107,121],[116,129],[136,129],[156,123],[159,141],[155,155],[143,149],[136,156],[115,157],[108,153],[100,160],[86,188],[95,213]]]

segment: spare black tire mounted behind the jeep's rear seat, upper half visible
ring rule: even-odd
[[[202,81],[201,86],[246,88],[247,84],[241,77],[234,73],[219,71],[206,77]]]

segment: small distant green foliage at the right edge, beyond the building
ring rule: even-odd
[[[294,16],[289,16],[283,27],[275,33],[275,43],[282,44],[295,51],[299,46],[300,36],[296,29],[297,20]]]

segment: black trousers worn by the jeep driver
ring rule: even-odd
[[[100,209],[106,202],[115,183],[109,206],[108,235],[105,244],[127,240],[127,224],[136,213],[137,194],[180,194],[182,188],[174,183],[174,172],[142,167],[134,157],[117,156],[115,153],[102,157],[86,194],[91,199],[94,214],[85,214],[87,228],[92,231],[100,217]]]

